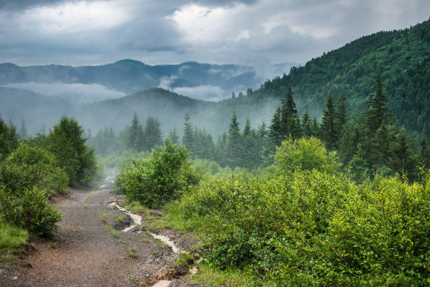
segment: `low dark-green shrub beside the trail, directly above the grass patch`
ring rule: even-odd
[[[44,190],[33,187],[13,191],[0,186],[0,220],[35,235],[51,236],[61,216],[48,204]]]

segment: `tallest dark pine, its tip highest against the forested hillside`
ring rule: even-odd
[[[387,96],[383,88],[384,84],[382,84],[381,73],[379,72],[373,87],[374,94],[370,94],[370,99],[366,102],[367,105],[369,105],[369,109],[365,111],[365,115],[367,116],[367,128],[371,134],[376,132],[383,120],[386,122],[386,112],[388,108],[386,108],[385,103]]]

